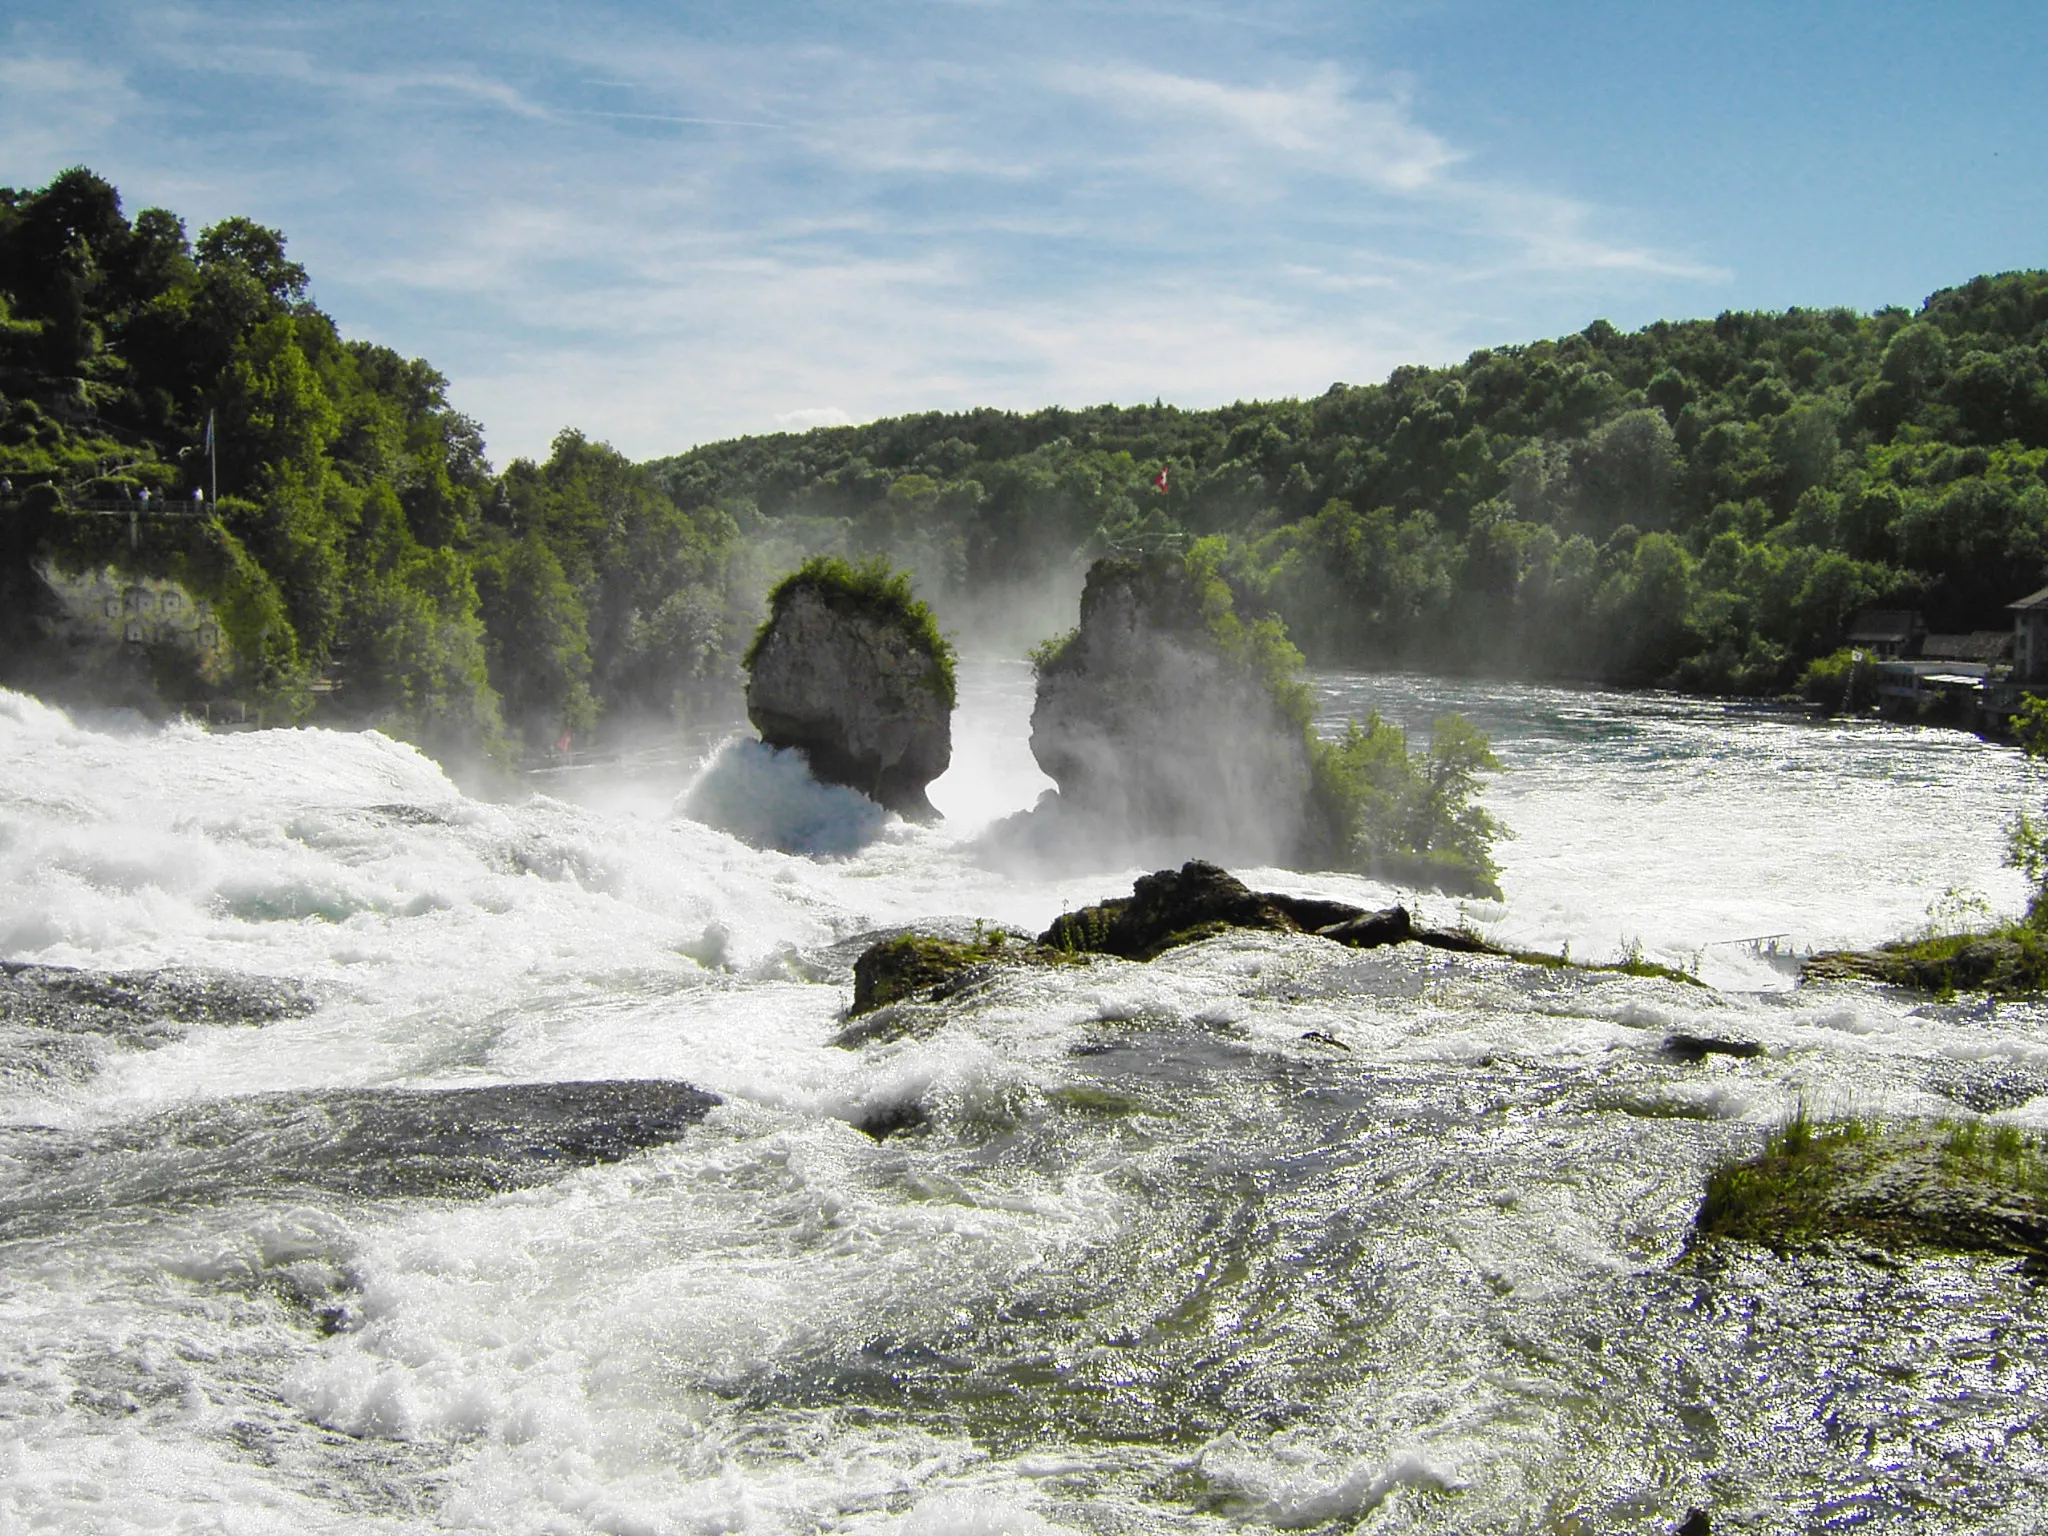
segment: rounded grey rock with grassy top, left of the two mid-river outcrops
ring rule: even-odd
[[[748,719],[811,774],[911,819],[952,762],[952,655],[907,578],[805,565],[770,598],[748,655]]]

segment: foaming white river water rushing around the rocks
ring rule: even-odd
[[[1323,694],[1493,733],[1507,899],[1427,915],[1718,989],[1245,934],[840,1049],[862,934],[1128,887],[975,862],[1044,788],[1022,666],[963,672],[948,823],[846,858],[682,817],[659,764],[496,805],[377,735],[0,694],[0,958],[291,1001],[0,1016],[0,1532],[2042,1528],[2011,1264],[1686,1251],[1704,1171],[1802,1098],[2048,1126],[2040,1010],[1792,989],[1751,942],[2013,909],[2017,754]],[[723,1102],[588,1165],[406,1092],[623,1077]]]

